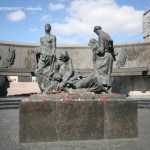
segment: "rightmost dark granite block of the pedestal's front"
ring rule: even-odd
[[[138,137],[137,101],[110,101],[104,103],[105,138]]]

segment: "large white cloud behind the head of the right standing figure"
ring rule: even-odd
[[[111,35],[135,35],[142,31],[143,11],[119,6],[115,0],[73,0],[67,11],[65,23],[53,24],[60,36],[74,34],[89,39],[95,36],[95,25],[101,25]]]

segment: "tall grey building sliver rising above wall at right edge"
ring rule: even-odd
[[[150,40],[150,10],[143,14],[143,39]]]

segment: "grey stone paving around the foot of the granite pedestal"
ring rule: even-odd
[[[138,127],[131,139],[19,143],[19,110],[0,110],[0,150],[150,150],[150,109],[138,109]]]

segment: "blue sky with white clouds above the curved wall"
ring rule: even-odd
[[[44,25],[57,44],[87,45],[100,25],[114,43],[142,41],[150,0],[0,0],[0,40],[40,43]]]

